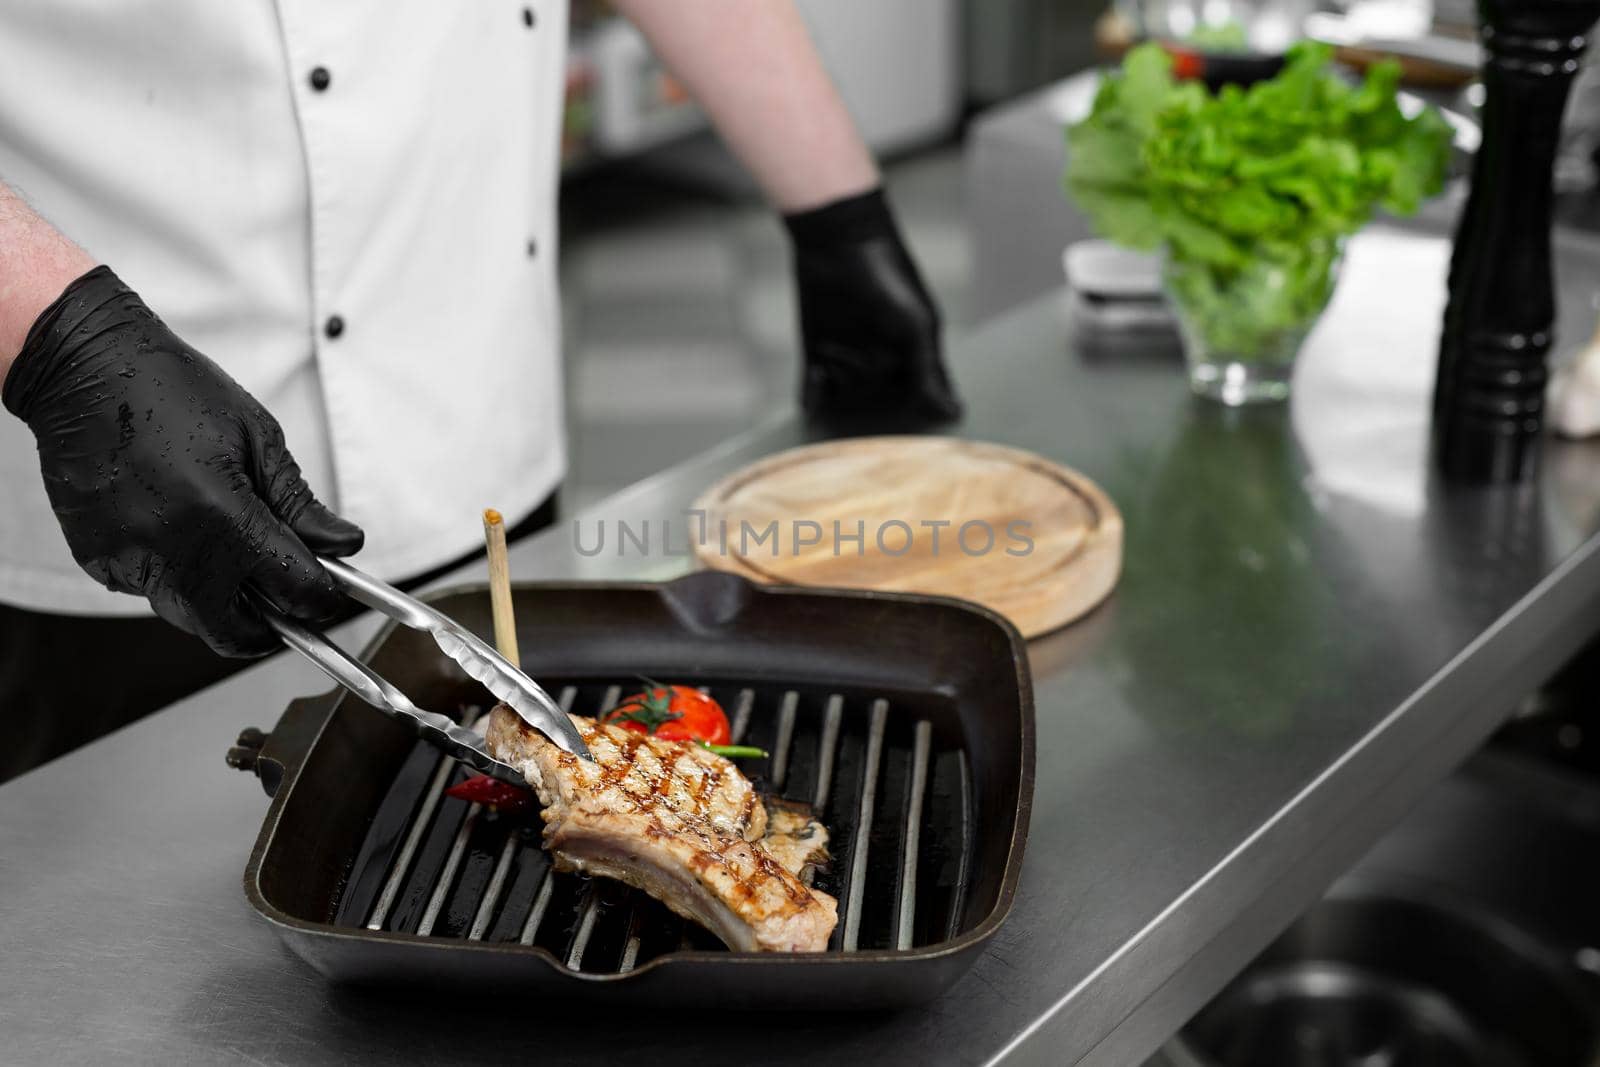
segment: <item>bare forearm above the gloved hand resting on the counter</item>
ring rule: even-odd
[[[781,211],[878,184],[792,0],[616,0]]]

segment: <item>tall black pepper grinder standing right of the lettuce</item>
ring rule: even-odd
[[[1478,0],[1483,144],[1456,226],[1434,386],[1434,454],[1453,482],[1530,477],[1555,325],[1550,171],[1600,0]]]

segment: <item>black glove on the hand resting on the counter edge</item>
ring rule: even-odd
[[[784,218],[795,253],[811,416],[946,422],[962,413],[939,355],[939,309],[882,189]]]

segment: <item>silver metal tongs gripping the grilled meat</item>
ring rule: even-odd
[[[400,625],[422,630],[432,637],[442,653],[482,681],[490,693],[517,712],[522,721],[549,737],[558,749],[584,760],[594,760],[589,755],[589,747],[584,744],[582,734],[573,726],[573,720],[566,717],[566,712],[550,699],[550,694],[475,633],[434,611],[426,603],[406,597],[394,585],[355,569],[349,563],[325,558],[318,558],[318,561],[333,577],[334,584],[352,598],[389,616]],[[482,736],[446,715],[424,712],[405,693],[390,685],[387,678],[378,675],[371,667],[330,641],[322,632],[283,616],[259,597],[256,598],[256,606],[261,609],[262,617],[266,617],[267,625],[277,630],[285,645],[317,664],[323,673],[346,689],[390,718],[408,721],[424,741],[480,774],[526,787],[528,779],[523,773],[490,755]]]

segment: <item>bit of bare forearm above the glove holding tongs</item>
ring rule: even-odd
[[[0,384],[38,314],[96,266],[0,182]]]

